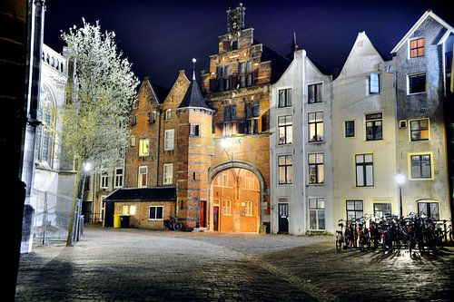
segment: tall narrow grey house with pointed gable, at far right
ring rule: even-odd
[[[452,26],[427,11],[391,51],[397,83],[397,164],[405,177],[400,185],[404,215],[450,217],[444,111],[449,109],[453,32]]]

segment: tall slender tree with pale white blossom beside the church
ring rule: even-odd
[[[101,31],[101,26],[75,25],[62,38],[74,59],[76,79],[69,102],[62,115],[62,143],[66,157],[77,162],[73,209],[66,246],[72,245],[74,212],[81,168],[87,161],[104,166],[119,159],[127,143],[127,125],[138,80],[131,63],[122,58],[114,42],[114,32]]]

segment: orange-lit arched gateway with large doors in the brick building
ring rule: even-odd
[[[259,232],[262,221],[264,180],[255,166],[229,161],[209,170],[210,229]]]

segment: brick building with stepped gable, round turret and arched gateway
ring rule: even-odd
[[[227,33],[202,71],[202,91],[195,72],[189,81],[180,71],[166,96],[143,81],[131,121],[125,187],[176,188],[169,213],[185,229],[259,232],[270,223],[271,83],[289,61],[244,27],[244,6],[226,13]],[[157,219],[151,211],[147,219]],[[166,219],[163,212],[159,219]]]

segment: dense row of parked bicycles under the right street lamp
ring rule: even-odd
[[[449,220],[435,220],[424,214],[410,213],[398,217],[390,213],[382,218],[364,215],[360,219],[340,219],[340,230],[336,231],[336,249],[347,248],[381,249],[408,248],[411,252],[436,253],[440,247],[453,242],[452,223]]]

